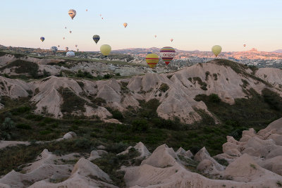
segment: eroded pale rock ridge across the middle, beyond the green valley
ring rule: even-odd
[[[249,68],[221,59],[192,65],[175,73],[146,73],[120,79],[109,76],[101,80],[93,75],[102,74],[105,63],[100,63],[103,66],[91,63],[90,68],[89,63],[72,64],[69,60],[30,57],[23,60],[6,55],[0,58],[0,71],[6,75],[0,77],[1,96],[30,97],[35,113],[54,118],[71,115],[107,120],[111,117],[109,108],[126,112],[128,108],[140,108],[140,101],[157,99],[157,113],[161,118],[178,118],[182,123],[191,124],[202,120],[200,110],[219,123],[203,101],[195,101],[195,96],[216,94],[221,101],[234,104],[235,99],[252,97],[253,91],[262,94],[264,89],[269,89],[282,94],[282,70]],[[85,67],[90,72],[82,72]],[[67,75],[62,74],[62,70],[66,70],[65,73],[80,71]],[[127,71],[123,67],[120,70]],[[40,79],[40,75],[48,77]],[[23,81],[13,79],[14,76],[37,77],[37,80]],[[1,108],[4,107],[1,104]]]

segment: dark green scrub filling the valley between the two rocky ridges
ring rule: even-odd
[[[110,156],[114,156],[126,146],[143,142],[150,151],[166,143],[174,149],[180,146],[186,150],[190,149],[192,153],[206,146],[209,153],[215,155],[222,152],[221,146],[226,142],[226,135],[238,139],[243,130],[249,127],[260,130],[281,117],[281,97],[268,89],[264,89],[262,96],[252,89],[248,92],[252,93],[250,99],[236,99],[234,105],[223,103],[216,94],[196,96],[197,101],[204,101],[209,111],[221,120],[220,125],[215,125],[214,119],[200,110],[197,110],[197,113],[202,115],[202,121],[193,125],[183,125],[178,118],[175,120],[159,118],[157,99],[140,101],[141,108],[129,107],[125,113],[111,110],[113,118],[124,123],[119,125],[103,123],[100,120],[87,120],[84,117],[62,120],[46,118],[32,113],[33,106],[27,103],[28,99],[11,100],[1,97],[1,104],[6,106],[0,111],[2,139],[51,140],[62,137],[69,131],[77,133],[78,138],[59,144],[32,144],[5,149],[4,152],[0,152],[0,160],[6,160],[11,156],[14,160],[8,166],[6,164],[0,166],[0,174],[34,160],[44,148],[63,154],[90,152],[98,144],[104,144],[107,150],[111,151]],[[71,101],[75,100],[80,99],[71,98]],[[104,103],[104,100],[99,98],[93,101],[97,104]],[[66,106],[66,110],[67,108],[76,107]]]

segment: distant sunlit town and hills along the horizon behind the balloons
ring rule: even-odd
[[[49,49],[32,49],[23,47],[1,46],[1,51],[10,51],[18,54],[30,54],[33,56],[65,56],[66,50],[60,50],[56,54],[52,54]],[[159,54],[158,48],[134,48],[134,49],[119,49],[113,50],[110,60],[126,61],[132,63],[146,64],[145,56],[148,52]],[[255,65],[257,67],[271,67],[282,68],[282,51],[257,51],[253,48],[246,51],[229,51],[221,52],[218,58],[225,58],[238,63],[246,65]],[[75,56],[77,58],[103,58],[99,51],[76,51]],[[205,63],[214,59],[212,51],[182,51],[176,49],[176,57],[173,59],[171,66],[182,68],[188,65],[194,65],[195,63]],[[163,65],[164,62],[160,61]]]

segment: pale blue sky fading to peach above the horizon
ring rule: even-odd
[[[80,51],[99,51],[102,44],[109,44],[112,49],[173,46],[210,51],[219,44],[223,51],[243,51],[243,44],[247,44],[245,49],[282,49],[282,0],[1,0],[0,3],[0,44],[4,46],[49,49],[60,45],[60,49],[68,46],[75,50],[78,44]],[[71,8],[77,12],[73,20],[68,15]],[[93,35],[101,37],[97,45]],[[45,37],[43,43],[40,37]]]

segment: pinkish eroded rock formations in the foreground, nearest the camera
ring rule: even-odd
[[[223,153],[214,157],[205,148],[193,155],[166,144],[150,153],[142,142],[121,153],[112,153],[110,146],[103,145],[91,153],[63,155],[44,149],[32,163],[21,164],[20,172],[12,170],[2,176],[0,186],[281,187],[281,125],[279,119],[259,132],[245,130],[240,141],[227,137]],[[53,142],[75,137],[70,132]]]

